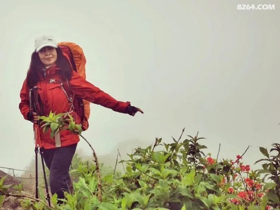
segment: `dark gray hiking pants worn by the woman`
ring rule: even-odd
[[[57,198],[64,198],[64,191],[71,193],[73,191],[72,181],[69,174],[69,167],[75,154],[77,144],[55,149],[44,150],[43,158],[48,167],[49,184],[51,193],[57,194]],[[58,203],[61,203],[58,201]]]

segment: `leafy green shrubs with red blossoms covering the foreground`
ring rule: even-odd
[[[52,206],[48,207],[41,192],[41,201],[24,199],[22,206],[53,210],[279,209],[280,144],[273,144],[270,152],[260,147],[265,158],[259,161],[265,163],[262,169],[253,171],[243,164],[242,155],[217,160],[204,154],[207,147],[200,144],[203,139],[197,135],[183,140],[173,138],[171,144],[156,139],[147,148],[135,148],[128,154],[128,160],[121,161],[125,173],[101,174],[101,202],[95,164],[88,165],[75,158],[71,170],[74,192],[66,193],[65,203],[57,204],[54,195]],[[3,181],[0,181],[0,203],[13,187],[4,186]],[[21,188],[16,187],[20,195]]]

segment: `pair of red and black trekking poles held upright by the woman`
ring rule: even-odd
[[[38,87],[34,87],[29,90],[29,105],[30,105],[30,116],[31,120],[33,122],[33,110],[38,114],[38,110],[36,108],[36,105],[38,104]],[[46,179],[46,171],[44,166],[44,160],[43,160],[43,150],[44,147],[41,147],[41,138],[39,133],[39,121],[37,124],[33,123],[33,131],[34,131],[34,140],[35,140],[35,173],[36,173],[36,198],[38,199],[38,147],[40,148],[40,155],[41,155],[41,161],[42,161],[42,167],[43,167],[43,174],[44,174],[44,181],[46,186],[46,199],[48,200],[49,207],[51,207],[50,203],[50,196],[49,196],[49,189],[48,189],[48,183]]]

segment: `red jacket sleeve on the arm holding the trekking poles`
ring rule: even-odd
[[[29,88],[27,85],[27,80],[25,79],[20,91],[20,99],[21,102],[19,103],[19,109],[21,111],[21,114],[23,115],[24,119],[29,120]]]

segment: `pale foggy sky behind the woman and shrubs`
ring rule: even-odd
[[[34,156],[32,123],[18,109],[34,40],[52,34],[79,44],[86,79],[144,114],[91,104],[83,132],[97,155],[122,156],[155,137],[199,131],[214,157],[262,158],[280,142],[279,9],[237,10],[252,1],[0,0],[0,166],[24,169]],[[122,143],[124,142],[124,143]],[[127,142],[130,142],[128,144]],[[143,143],[144,142],[144,143]],[[91,149],[81,139],[78,148]],[[0,168],[1,170],[1,168]]]

